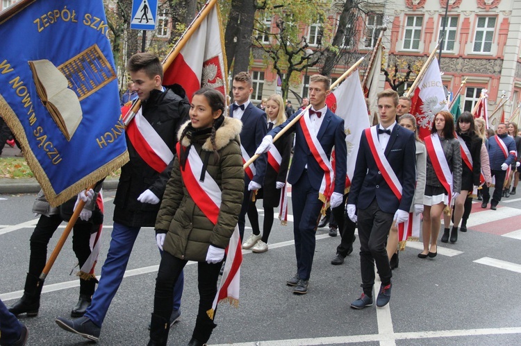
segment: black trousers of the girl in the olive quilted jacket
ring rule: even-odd
[[[154,314],[168,320],[172,314],[172,290],[177,278],[182,273],[188,261],[178,259],[168,252],[163,252],[156,279],[156,293],[154,295]],[[219,263],[197,263],[197,288],[199,289],[199,311],[192,334],[193,338],[206,343],[216,327],[213,319],[208,317],[206,311],[212,309],[213,300],[217,294],[217,279],[222,266]],[[215,318],[214,311],[214,318]]]

